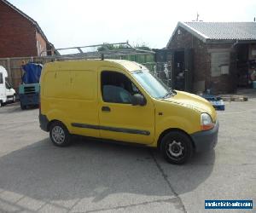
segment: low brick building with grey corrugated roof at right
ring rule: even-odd
[[[178,22],[167,50],[174,88],[234,92],[250,86],[250,73],[256,68],[256,23]],[[178,85],[180,72],[184,78]]]

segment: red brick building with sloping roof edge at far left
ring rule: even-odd
[[[8,1],[0,0],[0,58],[39,56],[53,48],[37,21]],[[52,51],[47,55],[52,55]]]

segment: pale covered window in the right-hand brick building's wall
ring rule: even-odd
[[[218,77],[222,74],[229,74],[230,52],[211,53],[211,72],[212,77]]]

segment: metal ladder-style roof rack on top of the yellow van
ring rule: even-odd
[[[115,47],[116,46],[116,47]],[[85,50],[89,49],[89,50]],[[130,43],[102,43],[89,46],[50,49],[41,52],[40,56],[47,55],[48,52],[54,51],[55,58],[83,58],[83,59],[99,59],[111,58],[123,55],[154,55],[154,51],[148,48],[134,48]],[[62,54],[61,54],[62,52]]]

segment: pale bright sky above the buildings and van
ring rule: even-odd
[[[99,43],[164,48],[177,21],[253,21],[256,0],[9,0],[55,48]]]

